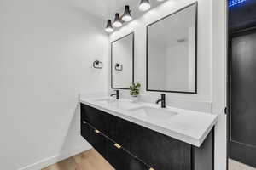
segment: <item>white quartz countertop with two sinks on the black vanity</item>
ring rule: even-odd
[[[129,99],[81,97],[80,103],[197,147],[201,146],[207,134],[211,132],[218,117],[200,111],[189,111],[169,106],[160,108],[160,105],[143,102],[133,103]],[[143,108],[151,111],[149,112],[151,115],[147,116],[147,111]]]

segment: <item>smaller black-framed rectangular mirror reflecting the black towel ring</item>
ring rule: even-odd
[[[134,33],[111,42],[111,88],[129,89],[134,82]]]

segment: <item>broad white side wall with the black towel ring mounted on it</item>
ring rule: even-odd
[[[1,169],[40,169],[88,149],[78,94],[108,90],[102,22],[68,1],[1,0],[0,23]]]

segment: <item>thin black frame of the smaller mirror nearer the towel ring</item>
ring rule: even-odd
[[[127,35],[125,35],[124,37],[119,37],[119,39],[116,39],[114,40],[113,42],[111,42],[111,88],[112,89],[123,89],[123,90],[129,90],[130,88],[114,88],[113,87],[113,43],[114,42],[117,42],[125,37],[128,37],[128,36],[132,36],[132,82],[131,83],[134,83],[134,32],[131,32]]]

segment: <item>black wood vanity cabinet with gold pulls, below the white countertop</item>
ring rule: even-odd
[[[81,135],[117,170],[213,170],[213,132],[197,148],[81,104]]]

